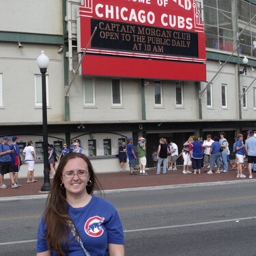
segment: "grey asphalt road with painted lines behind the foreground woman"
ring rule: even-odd
[[[256,255],[256,183],[106,193],[126,255]],[[0,202],[0,255],[35,255],[45,199]]]

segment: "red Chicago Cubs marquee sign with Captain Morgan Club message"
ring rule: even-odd
[[[195,0],[84,0],[82,74],[205,81],[205,33]]]

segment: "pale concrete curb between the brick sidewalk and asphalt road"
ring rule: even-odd
[[[165,185],[165,186],[144,186],[139,188],[118,188],[118,189],[109,189],[104,190],[104,194],[111,193],[124,193],[124,192],[134,192],[134,191],[147,191],[147,190],[165,190],[165,189],[173,189],[173,188],[189,188],[195,186],[216,186],[216,185],[225,185],[225,184],[244,184],[248,182],[256,182],[254,180],[230,180],[224,182],[201,182],[201,183],[190,183],[190,184],[174,184],[174,185]],[[97,194],[97,191],[95,191]],[[47,195],[24,195],[18,197],[0,197],[0,202],[8,202],[8,201],[23,201],[23,200],[31,200],[31,199],[46,199]]]

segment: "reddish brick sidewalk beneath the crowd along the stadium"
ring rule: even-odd
[[[229,170],[228,173],[207,174],[202,172],[200,175],[182,174],[182,167],[177,171],[167,171],[167,175],[156,175],[156,169],[147,170],[148,175],[139,175],[139,171],[135,171],[137,175],[129,175],[129,171],[124,173],[98,173],[97,177],[102,184],[104,190],[120,189],[120,188],[139,188],[146,186],[164,186],[177,184],[195,184],[203,182],[225,182],[232,180],[248,180],[248,169],[244,170],[245,179],[236,177],[236,170]],[[256,178],[256,174],[255,178]],[[24,195],[42,195],[40,189],[44,182],[42,177],[38,178],[38,182],[27,183],[27,179],[19,179],[22,185],[19,188],[10,188],[10,180],[5,180],[8,188],[0,189],[0,197],[17,197]]]

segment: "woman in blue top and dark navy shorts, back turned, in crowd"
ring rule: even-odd
[[[193,143],[190,145],[190,157],[192,161],[193,174],[201,174],[203,146],[197,136],[193,137]]]

